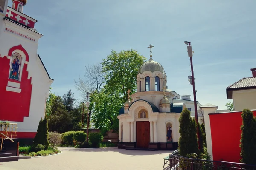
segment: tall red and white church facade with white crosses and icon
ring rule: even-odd
[[[18,124],[18,138],[34,138],[45,115],[46,99],[53,79],[37,54],[43,36],[37,20],[22,13],[26,0],[0,14],[0,120]]]

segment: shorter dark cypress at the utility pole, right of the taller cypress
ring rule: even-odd
[[[198,149],[198,137],[197,137],[197,124],[195,118],[191,119],[189,125],[189,153],[199,153]]]

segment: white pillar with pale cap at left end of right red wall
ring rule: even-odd
[[[212,134],[211,134],[211,122],[209,113],[215,113],[218,106],[206,104],[200,107],[204,113],[204,125],[205,125],[205,136],[206,136],[206,144],[207,144],[207,152],[212,157]]]

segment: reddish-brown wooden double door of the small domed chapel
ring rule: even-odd
[[[136,122],[136,144],[137,148],[147,149],[150,142],[150,123]]]

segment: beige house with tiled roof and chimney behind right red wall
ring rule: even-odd
[[[253,77],[242,78],[226,89],[227,99],[233,99],[234,111],[256,109],[256,68],[251,71]]]

